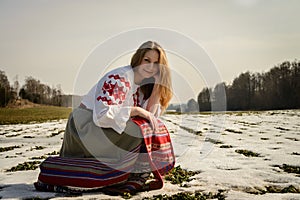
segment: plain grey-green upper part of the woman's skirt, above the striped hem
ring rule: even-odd
[[[69,116],[60,156],[118,162],[142,141],[140,127],[133,121],[129,120],[119,134],[112,128],[96,126],[91,110],[76,108]]]

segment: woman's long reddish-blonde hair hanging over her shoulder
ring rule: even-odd
[[[173,96],[172,93],[172,81],[171,81],[171,71],[168,64],[168,59],[163,48],[154,41],[147,41],[143,43],[135,52],[131,58],[132,68],[137,67],[141,64],[142,59],[145,56],[145,53],[149,50],[157,51],[159,55],[158,64],[159,64],[159,73],[160,80],[158,81],[158,89],[160,96],[160,105],[162,110],[165,111],[169,105],[169,102]],[[153,82],[150,84],[142,84],[141,90],[144,93],[146,98],[149,98],[153,89]]]

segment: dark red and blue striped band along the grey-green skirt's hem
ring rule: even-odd
[[[125,182],[133,170],[139,148],[119,163],[94,158],[48,157],[40,165],[38,180],[50,185],[98,188]]]

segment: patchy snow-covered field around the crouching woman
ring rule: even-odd
[[[299,168],[298,174],[283,168],[300,166],[300,110],[164,115],[162,120],[170,131],[177,165],[200,173],[187,183],[190,187],[166,182],[163,189],[139,193],[132,199],[220,189],[225,190],[226,199],[300,199]],[[65,124],[66,120],[60,120],[0,126],[0,198],[68,198],[35,191],[32,184],[38,168],[9,171],[19,163],[42,161],[56,154]],[[284,188],[298,193],[272,192]],[[77,198],[120,197],[84,193]]]

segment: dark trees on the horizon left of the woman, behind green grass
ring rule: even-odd
[[[1,107],[7,106],[9,102],[13,102],[18,98],[27,99],[37,104],[62,106],[64,103],[63,96],[59,85],[50,87],[31,76],[25,79],[25,84],[19,89],[18,80],[10,85],[5,72],[0,70]]]

